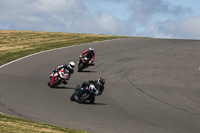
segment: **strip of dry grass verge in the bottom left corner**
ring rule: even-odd
[[[89,133],[0,114],[1,133]]]

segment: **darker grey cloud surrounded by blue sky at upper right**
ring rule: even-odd
[[[183,8],[181,6],[173,6],[170,3],[163,0],[132,0],[128,7],[131,15],[129,21],[138,25],[146,25],[150,21],[154,21],[154,16],[167,17],[180,17],[183,14],[191,12],[189,8]],[[158,18],[160,19],[160,18]]]

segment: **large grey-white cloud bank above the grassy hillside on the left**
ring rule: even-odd
[[[130,33],[126,31],[126,25],[109,13],[101,12],[94,16],[84,1],[0,0],[0,5],[0,29],[111,35]],[[4,23],[8,23],[6,27],[3,27]]]

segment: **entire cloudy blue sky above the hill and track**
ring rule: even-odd
[[[200,39],[200,0],[0,0],[0,30]]]

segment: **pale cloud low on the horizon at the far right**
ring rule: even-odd
[[[174,21],[158,22],[150,25],[138,35],[155,38],[200,39],[200,16],[187,17]]]

